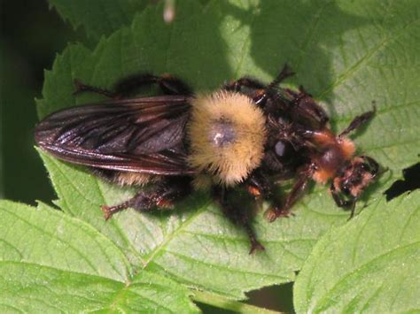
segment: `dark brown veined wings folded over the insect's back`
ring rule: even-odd
[[[154,96],[58,111],[35,128],[53,156],[99,168],[191,174],[183,149],[191,105],[185,96]]]

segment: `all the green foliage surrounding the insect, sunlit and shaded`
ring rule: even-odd
[[[299,312],[419,309],[419,280],[412,275],[420,273],[419,196],[385,203],[382,195],[402,168],[418,161],[416,1],[183,1],[169,25],[161,4],[138,14],[131,13],[143,4],[134,10],[122,0],[89,2],[95,10],[78,1],[51,4],[83,27],[90,48],[69,44],[56,57],[37,101],[40,118],[101,99],[72,96],[75,78],[111,87],[129,73],[175,73],[196,90],[211,90],[244,74],[269,81],[287,62],[297,73],[289,84],[303,84],[324,105],[334,130],[377,102],[377,117],[356,142],[389,171],[350,222],[323,187],[311,189],[294,218],[268,224],[259,213],[255,227],[267,250],[248,256],[245,234],[208,195],[193,195],[171,214],[125,211],[105,222],[99,205],[134,190],[41,153],[62,212],[43,203],[37,209],[0,203],[5,310],[19,303],[17,310],[197,311],[191,297],[238,310],[239,303],[221,297],[242,300],[246,291],[296,277]],[[373,282],[382,286],[372,290]],[[66,297],[58,302],[57,295]]]

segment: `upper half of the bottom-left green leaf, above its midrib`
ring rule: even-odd
[[[128,280],[129,264],[121,251],[80,219],[46,205],[35,209],[1,201],[0,209],[4,222],[0,229],[2,260]],[[81,252],[90,254],[83,256]]]

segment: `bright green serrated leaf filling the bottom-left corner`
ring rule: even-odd
[[[40,204],[0,202],[0,310],[197,312],[188,290],[151,272],[130,275],[112,241]]]

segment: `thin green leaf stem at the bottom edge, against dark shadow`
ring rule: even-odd
[[[251,304],[241,303],[235,300],[229,300],[219,295],[213,295],[206,292],[193,290],[192,292],[192,300],[198,303],[205,303],[208,305],[212,305],[216,308],[221,308],[224,310],[233,310],[235,312],[240,313],[261,313],[261,314],[278,314],[281,312],[277,312],[276,310],[267,310],[264,308],[260,308],[258,306],[254,306]]]

